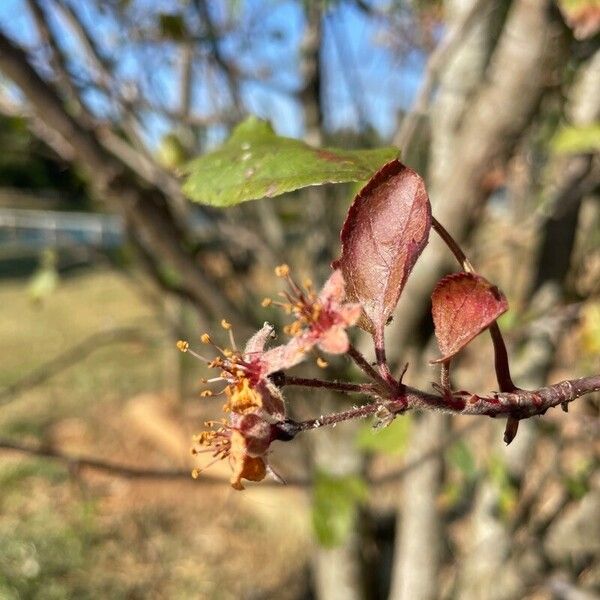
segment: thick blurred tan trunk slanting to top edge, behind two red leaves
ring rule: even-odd
[[[489,196],[491,166],[502,166],[530,124],[547,88],[564,63],[566,32],[549,0],[517,0],[480,89],[473,94],[454,136],[453,166],[433,181],[434,214],[452,236],[463,241],[478,209]],[[435,236],[411,274],[399,312],[389,331],[390,346],[405,348],[447,264],[447,251]]]

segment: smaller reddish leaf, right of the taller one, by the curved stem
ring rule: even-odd
[[[508,310],[504,294],[487,279],[473,273],[455,273],[441,279],[431,296],[435,337],[444,362]]]

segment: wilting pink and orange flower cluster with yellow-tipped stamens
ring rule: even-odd
[[[208,334],[201,337],[204,344],[212,345],[219,355],[206,359],[191,350],[188,342],[178,342],[182,352],[189,352],[206,362],[220,374],[206,383],[224,382],[219,392],[226,398],[223,411],[226,417],[205,423],[208,428],[194,438],[194,454],[209,453],[210,464],[228,459],[231,467],[231,485],[244,489],[242,479],[261,481],[267,474],[278,480],[268,462],[273,441],[290,439],[285,428],[286,407],[283,395],[269,377],[277,371],[289,369],[305,360],[315,346],[324,352],[341,354],[348,350],[346,328],[354,325],[360,316],[358,304],[344,303],[344,279],[340,271],[334,271],[320,294],[316,294],[310,282],[301,288],[291,277],[287,265],[277,267],[276,274],[286,279],[289,291],[283,292],[285,302],[263,301],[263,306],[280,305],[296,320],[285,327],[291,339],[283,345],[265,349],[273,337],[274,329],[268,323],[250,338],[243,352],[237,350],[231,325],[223,320],[221,325],[229,332],[231,348],[220,348]],[[317,361],[321,366],[323,359]],[[213,396],[205,390],[202,396]],[[207,466],[209,466],[207,465]],[[206,467],[204,467],[206,468]],[[201,470],[192,472],[194,477]]]

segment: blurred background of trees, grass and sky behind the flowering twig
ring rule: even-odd
[[[350,186],[182,196],[181,165],[254,114],[401,148],[509,299],[517,385],[598,373],[599,28],[596,0],[2,0],[0,598],[600,597],[598,395],[508,448],[433,414],[305,434],[275,444],[287,486],[239,493],[226,465],[189,476],[222,402],[175,349],[281,325],[273,267],[320,285],[339,252]],[[432,239],[388,327],[424,389],[452,270]],[[486,336],[454,385],[495,389]],[[360,401],[286,397],[295,418]]]

